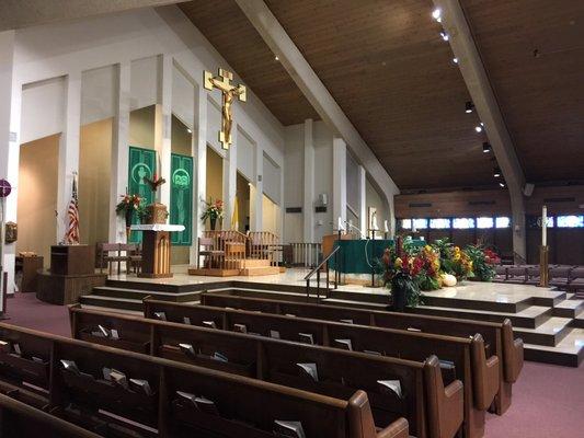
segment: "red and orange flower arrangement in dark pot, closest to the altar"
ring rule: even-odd
[[[424,261],[420,256],[408,255],[398,239],[394,249],[387,249],[381,263],[385,267],[386,286],[391,289],[393,309],[403,311],[405,304],[416,307],[421,302],[416,277],[421,274]]]

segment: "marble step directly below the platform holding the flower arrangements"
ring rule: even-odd
[[[468,320],[490,322],[503,322],[506,318],[508,318],[514,327],[536,328],[550,319],[552,309],[542,306],[530,306],[517,313],[506,313],[474,309],[442,308],[424,304],[413,309],[412,312],[436,316],[463,318]]]

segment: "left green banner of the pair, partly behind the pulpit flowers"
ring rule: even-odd
[[[128,194],[138,195],[144,205],[154,201],[154,193],[150,189],[147,178],[153,178],[156,173],[156,152],[152,149],[129,147],[128,160]],[[133,223],[139,223],[138,215],[134,215]],[[133,232],[130,242],[140,243],[141,232]]]

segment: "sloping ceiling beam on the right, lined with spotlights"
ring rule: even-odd
[[[513,140],[459,1],[433,1],[434,5],[442,10],[442,24],[449,36],[450,46],[458,58],[458,67],[508,187],[515,231],[513,247],[519,257],[525,258],[525,174]]]

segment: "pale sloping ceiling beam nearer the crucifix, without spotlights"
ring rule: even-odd
[[[399,188],[263,0],[236,0],[322,119],[343,138],[390,203]]]

